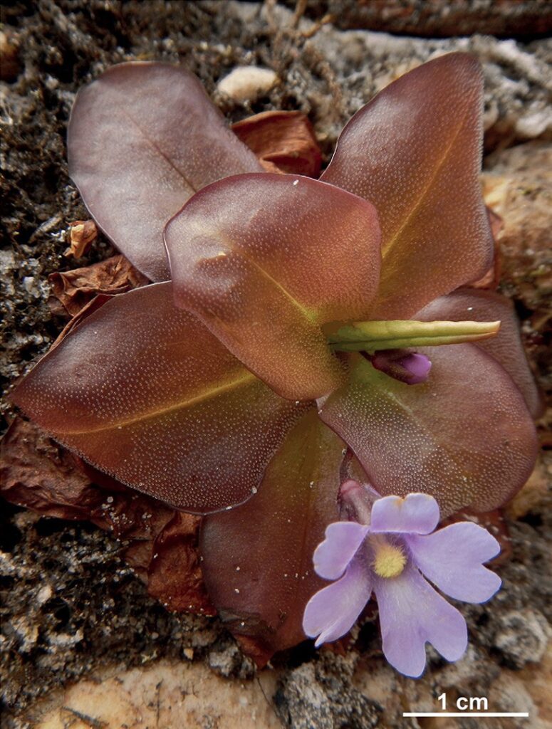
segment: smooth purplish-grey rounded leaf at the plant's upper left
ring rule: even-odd
[[[169,277],[163,227],[186,200],[263,169],[198,79],[166,63],[120,63],[80,90],[67,147],[90,214],[152,281]]]

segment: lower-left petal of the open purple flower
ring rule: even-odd
[[[303,630],[316,638],[315,646],[337,640],[348,633],[370,599],[372,575],[365,563],[355,559],[341,580],[315,593],[303,615]]]

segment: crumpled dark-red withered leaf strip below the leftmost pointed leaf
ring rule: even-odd
[[[22,418],[12,421],[1,444],[0,495],[45,516],[109,531],[123,542],[120,556],[152,597],[168,609],[214,615],[196,550],[201,519],[100,474]]]

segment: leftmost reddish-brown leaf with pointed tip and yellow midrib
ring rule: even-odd
[[[309,407],[257,380],[174,306],[168,283],[90,314],[12,399],[94,466],[190,512],[248,499]]]

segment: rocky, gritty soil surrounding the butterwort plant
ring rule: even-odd
[[[526,26],[522,40],[515,28],[505,39],[484,36],[477,18],[471,35],[459,38],[343,31],[316,22],[322,6],[309,4],[302,20],[271,1],[22,0],[2,9],[6,390],[63,327],[47,304],[47,276],[112,254],[100,236],[77,262],[64,255],[69,223],[88,217],[67,176],[66,124],[78,88],[107,66],[183,63],[231,122],[299,109],[327,161],[343,123],[376,91],[435,54],[466,50],[485,72],[483,184],[504,219],[501,287],[516,303],[529,358],[550,394],[551,42],[531,40]],[[543,36],[540,27],[536,36]],[[219,82],[236,66],[269,69],[276,83],[225,95]],[[2,416],[5,427],[12,417],[5,401]],[[540,434],[550,447],[546,424],[545,417]],[[432,720],[402,714],[438,709],[446,691],[451,701],[486,696],[493,711],[528,711],[530,719],[464,717],[439,720],[441,728],[550,729],[551,475],[550,452],[543,451],[505,516],[511,554],[497,567],[504,588],[489,605],[462,608],[471,632],[467,656],[448,666],[432,655],[419,681],[385,665],[368,619],[346,651],[315,653],[303,644],[256,672],[216,619],[171,615],[149,598],[104,532],[1,502],[0,726],[431,729]]]

